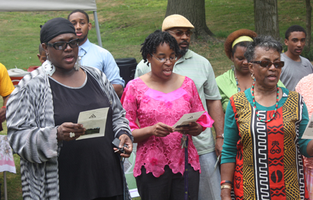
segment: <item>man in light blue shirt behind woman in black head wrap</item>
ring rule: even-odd
[[[83,10],[73,10],[67,16],[67,19],[74,25],[77,38],[80,41],[79,57],[81,58],[81,65],[95,67],[104,72],[118,97],[121,97],[125,81],[120,77],[120,69],[116,65],[112,54],[106,49],[89,42],[88,31],[90,31],[92,25],[89,22],[88,14]]]

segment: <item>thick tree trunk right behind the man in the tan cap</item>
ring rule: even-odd
[[[205,21],[204,0],[168,0],[166,17],[173,14],[183,15],[195,26],[191,40],[200,38],[210,40],[211,36],[214,36]]]

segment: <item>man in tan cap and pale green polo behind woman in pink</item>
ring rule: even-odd
[[[214,165],[222,151],[224,114],[209,60],[188,49],[192,28],[194,28],[193,24],[182,15],[170,15],[164,19],[162,25],[162,31],[168,31],[179,44],[180,52],[173,72],[188,76],[195,82],[204,109],[215,121],[213,126],[216,131],[216,145],[214,145],[211,128],[193,137],[193,144],[198,150],[201,165],[199,199],[220,199],[220,173],[218,167],[214,169]],[[135,77],[150,72],[151,68],[148,65],[141,60],[137,65]]]

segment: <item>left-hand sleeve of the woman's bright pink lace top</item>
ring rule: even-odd
[[[136,95],[136,86],[134,81],[131,81],[127,84],[124,93],[122,95],[122,106],[127,110],[126,118],[129,119],[129,126],[131,131],[138,129],[139,126],[136,124],[137,119],[137,95]]]

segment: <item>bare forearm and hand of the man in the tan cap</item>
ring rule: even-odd
[[[222,135],[224,133],[224,113],[222,108],[222,103],[220,100],[205,100],[207,102],[207,110],[212,119],[214,119],[214,129],[216,135]],[[216,156],[220,156],[223,149],[223,138],[217,138],[215,144]]]

